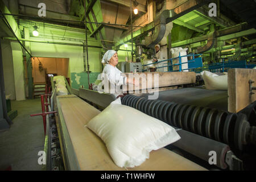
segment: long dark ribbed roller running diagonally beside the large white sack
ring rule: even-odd
[[[228,144],[238,150],[249,143],[256,143],[255,126],[251,126],[248,117],[226,111],[201,106],[177,104],[175,102],[147,100],[143,97],[127,95],[122,104],[134,107],[171,126]],[[254,116],[255,105],[247,115]],[[248,114],[249,113],[249,114]]]

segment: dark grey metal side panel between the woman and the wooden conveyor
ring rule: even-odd
[[[115,100],[115,96],[113,94],[108,93],[99,93],[94,90],[88,89],[79,89],[79,97],[84,98],[94,104],[97,104],[102,107],[108,107],[108,105]]]

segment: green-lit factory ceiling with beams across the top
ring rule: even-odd
[[[131,19],[134,26],[133,31],[135,32],[154,21],[164,10],[177,9],[182,11],[185,3],[196,2],[194,0],[137,0],[131,4],[132,7],[136,6],[138,8],[139,13],[130,16],[130,1],[123,0],[0,1],[10,10],[10,14],[13,14],[19,26],[27,27],[32,31],[33,24],[38,24],[39,32],[43,32],[44,38],[52,36],[52,38],[61,40],[64,38],[72,39],[73,36],[74,39],[84,40],[84,19],[86,14],[88,38],[99,41],[102,47],[106,48],[111,48],[120,39],[130,36]],[[44,18],[38,16],[38,4],[42,2],[47,6],[47,16]],[[86,3],[85,9],[84,2]],[[197,9],[187,11],[172,22],[175,26],[185,27],[191,31],[192,33],[188,34],[191,35],[190,39],[209,34],[213,27],[214,30],[221,30],[247,22],[247,29],[255,28],[255,1],[220,0],[216,1],[216,3],[218,5],[217,17],[209,17],[209,7],[205,3]],[[242,36],[242,40],[255,39],[256,35],[251,32]],[[10,36],[10,32],[3,30],[0,36]],[[179,39],[174,40],[173,43],[179,44],[178,42],[188,39],[187,36],[182,37],[180,35],[177,38]],[[226,40],[226,43],[236,44],[237,38],[234,36],[232,39]]]

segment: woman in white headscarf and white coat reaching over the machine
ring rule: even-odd
[[[116,65],[118,64],[117,51],[108,50],[104,54],[101,63],[105,63],[105,67],[102,71],[103,74],[101,76],[101,80],[103,81],[104,77],[108,78],[110,85],[114,86],[115,89],[117,88],[116,86],[120,88],[121,85],[133,84],[137,86],[139,84],[138,81],[136,81],[134,78],[121,76],[122,72],[119,71],[119,69],[116,67]],[[117,97],[119,94],[121,94],[117,91],[118,90],[115,90],[115,93],[113,93],[111,90],[110,93],[113,93]]]

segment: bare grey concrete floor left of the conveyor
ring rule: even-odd
[[[9,130],[0,131],[0,170],[41,170],[38,152],[44,150],[44,129],[41,100],[11,101],[11,108],[18,110]]]

